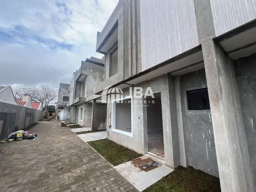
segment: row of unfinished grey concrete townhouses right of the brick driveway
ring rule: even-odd
[[[256,1],[119,0],[69,85],[70,122],[256,191]]]

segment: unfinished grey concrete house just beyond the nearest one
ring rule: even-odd
[[[93,130],[106,130],[106,103],[86,100],[93,96],[95,87],[104,80],[104,62],[98,58],[87,58],[74,72],[70,82],[70,122]],[[97,110],[97,113],[94,111]],[[94,119],[94,121],[93,121]],[[96,121],[97,119],[97,121]]]

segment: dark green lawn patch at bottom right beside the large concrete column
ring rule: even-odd
[[[221,192],[220,180],[192,167],[179,166],[145,192]]]

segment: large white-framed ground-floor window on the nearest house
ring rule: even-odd
[[[112,131],[133,137],[132,101],[131,96],[112,101]]]

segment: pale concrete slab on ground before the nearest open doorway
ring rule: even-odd
[[[129,180],[139,191],[145,190],[173,171],[173,169],[162,165],[146,172],[134,166],[131,161],[114,166],[114,169]]]

